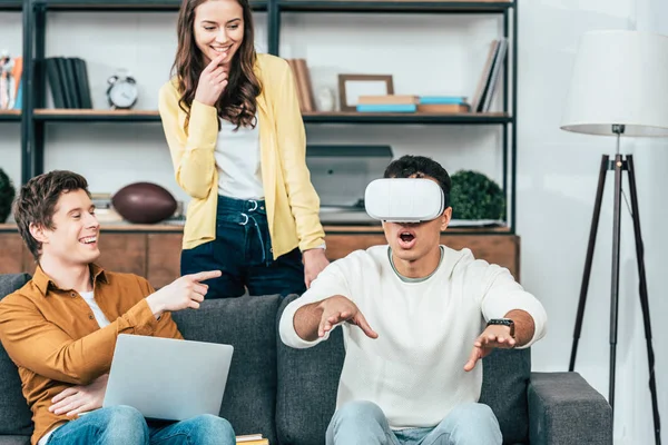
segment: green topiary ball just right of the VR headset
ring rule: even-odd
[[[452,219],[504,218],[505,198],[501,187],[483,174],[461,170],[452,175]]]

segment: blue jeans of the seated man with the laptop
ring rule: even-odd
[[[130,406],[96,409],[62,425],[47,445],[235,445],[226,419],[205,414],[183,422],[147,423]]]

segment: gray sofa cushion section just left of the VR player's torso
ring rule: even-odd
[[[293,295],[284,299],[276,329],[285,306],[295,298]],[[276,432],[281,445],[325,443],[345,356],[341,333],[342,329],[334,329],[327,342],[308,349],[291,348],[277,336]]]

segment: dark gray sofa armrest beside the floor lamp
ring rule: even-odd
[[[612,408],[578,373],[531,373],[531,445],[612,444]]]

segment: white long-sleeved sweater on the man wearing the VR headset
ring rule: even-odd
[[[512,309],[525,310],[536,324],[528,347],[544,335],[547,315],[508,269],[474,259],[469,249],[443,246],[435,273],[410,283],[395,273],[387,250],[389,246],[374,246],[327,266],[285,308],[281,339],[295,348],[326,339],[328,335],[303,340],[295,332],[294,314],[303,305],[346,296],[379,338],[341,324],[346,354],[337,408],[352,400],[370,400],[383,409],[393,429],[433,427],[453,407],[480,397],[482,364],[469,373],[463,367],[485,320]]]

